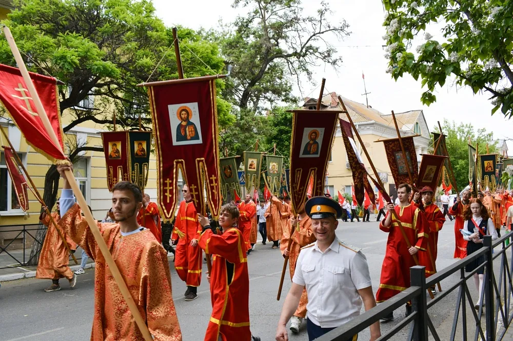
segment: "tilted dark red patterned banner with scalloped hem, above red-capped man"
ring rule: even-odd
[[[388,165],[390,166],[390,172],[392,172],[393,181],[396,183],[396,186],[403,183],[408,183],[411,186],[414,186],[415,183],[417,183],[419,175],[419,164],[417,163],[417,153],[415,152],[415,144],[413,144],[413,136],[402,137],[401,140],[403,140],[407,161],[404,159],[399,138],[377,142],[383,142],[385,145]],[[409,173],[413,178],[413,183],[411,183],[409,179],[406,164],[408,164]]]

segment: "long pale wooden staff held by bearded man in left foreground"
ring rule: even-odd
[[[30,97],[32,97],[32,100],[34,101],[37,113],[40,116],[41,121],[43,122],[43,125],[45,126],[46,132],[52,139],[55,146],[60,149],[61,153],[64,154],[64,152],[62,151],[61,144],[57,140],[57,136],[55,135],[55,132],[52,128],[50,120],[48,119],[48,115],[46,114],[45,108],[43,106],[43,103],[41,102],[39,94],[35,90],[34,84],[32,83],[32,79],[30,78],[29,72],[27,71],[25,62],[23,61],[21,54],[19,54],[19,50],[16,46],[16,42],[14,41],[14,37],[12,36],[11,31],[9,30],[9,28],[7,26],[4,25],[2,27],[2,29],[4,31],[4,35],[7,39],[9,47],[11,48],[14,59],[16,60],[19,71],[21,72],[21,74],[23,76],[23,79],[27,86],[27,90],[30,93]],[[116,281],[117,285],[120,288],[123,298],[125,299],[125,302],[133,315],[135,323],[139,327],[139,330],[141,331],[141,334],[143,335],[145,341],[152,341],[153,337],[151,336],[150,331],[148,330],[148,326],[146,325],[146,322],[142,318],[141,313],[139,312],[139,309],[137,308],[137,305],[135,304],[133,297],[130,294],[130,291],[128,291],[128,287],[127,287],[125,281],[123,280],[123,276],[121,275],[120,270],[117,268],[116,263],[114,262],[114,259],[112,258],[112,255],[110,254],[107,244],[105,244],[105,240],[103,239],[102,232],[100,232],[100,229],[98,229],[96,220],[94,219],[91,211],[89,210],[89,207],[87,207],[86,199],[82,195],[82,191],[80,190],[80,187],[78,187],[78,184],[76,182],[75,176],[73,175],[73,172],[71,172],[71,170],[68,169],[67,171],[65,171],[65,176],[73,190],[73,193],[78,202],[78,205],[84,212],[84,216],[86,218],[87,223],[89,224],[89,228],[91,229],[94,239],[96,240],[96,243],[98,244],[98,248],[100,248],[100,251],[102,252],[103,257],[105,258],[105,262],[107,263],[107,265],[110,269],[110,272],[112,273],[112,276],[114,277],[114,280]]]

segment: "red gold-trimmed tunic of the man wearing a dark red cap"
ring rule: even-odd
[[[429,223],[429,250],[431,251],[432,260],[433,262],[435,262],[436,265],[438,255],[438,232],[442,229],[442,226],[445,223],[445,217],[437,205],[430,203],[429,205],[424,204],[423,206],[424,216],[426,217],[427,222]],[[429,253],[419,252],[418,255],[419,263],[426,267],[426,277],[429,277],[430,275],[435,273],[435,267],[433,267],[433,263],[431,262]]]

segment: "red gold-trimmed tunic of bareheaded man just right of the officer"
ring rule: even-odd
[[[410,244],[422,252],[426,251],[429,225],[424,213],[415,205],[396,206],[394,210]],[[380,223],[380,229],[388,232],[388,241],[381,268],[380,287],[376,293],[378,303],[384,302],[408,288],[410,286],[410,267],[416,265],[408,252],[408,245],[403,238],[397,220],[392,217],[391,226],[383,226],[389,214],[390,211]],[[419,253],[421,252],[417,252],[417,255]]]

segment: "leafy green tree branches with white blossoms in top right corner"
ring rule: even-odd
[[[436,101],[437,84],[448,77],[474,93],[490,95],[494,114],[499,108],[513,116],[513,2],[504,0],[384,0],[387,11],[388,73],[394,79],[405,73],[422,79],[427,90],[421,100]],[[443,23],[445,41],[432,39],[429,23]],[[424,35],[424,41],[417,47]],[[416,43],[416,45],[418,42]],[[415,51],[413,51],[415,50]]]

